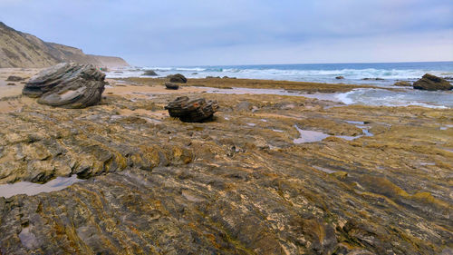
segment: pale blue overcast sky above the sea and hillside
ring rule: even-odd
[[[0,21],[139,66],[453,61],[451,0],[0,0]]]

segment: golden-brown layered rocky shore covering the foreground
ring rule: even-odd
[[[365,85],[189,79],[167,90],[168,79],[150,78],[107,80],[101,103],[63,109],[4,84],[32,76],[21,72],[0,72],[0,183],[85,181],[0,197],[3,254],[453,249],[451,109],[203,90]],[[180,96],[215,101],[217,113],[205,123],[172,118],[164,108]],[[325,138],[296,142],[301,131]]]

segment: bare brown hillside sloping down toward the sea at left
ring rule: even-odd
[[[83,54],[78,48],[43,42],[0,22],[0,67],[46,67],[62,62],[110,68],[129,65],[120,57]]]

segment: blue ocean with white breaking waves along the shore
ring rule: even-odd
[[[388,90],[395,88],[393,83],[397,81],[414,82],[423,74],[434,74],[451,81],[453,62],[135,66],[120,71],[112,70],[107,73],[107,77],[146,77],[142,75],[144,70],[156,71],[159,74],[157,77],[178,73],[188,78],[228,76],[315,83],[371,84],[382,89],[357,89],[336,97],[347,104],[453,108],[453,92],[425,92],[403,87],[398,91]],[[344,79],[336,79],[337,76],[343,76]]]

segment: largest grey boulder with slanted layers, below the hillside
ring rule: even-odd
[[[85,108],[101,102],[105,74],[92,64],[57,64],[36,74],[23,94],[40,97],[38,103],[63,108]]]

